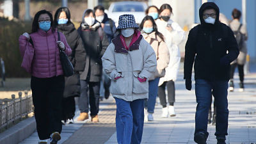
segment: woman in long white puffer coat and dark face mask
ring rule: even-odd
[[[163,106],[162,117],[175,116],[173,104],[175,102],[175,84],[180,65],[180,51],[178,45],[184,40],[185,35],[177,22],[170,19],[172,7],[169,4],[163,4],[159,10],[159,19],[156,20],[159,32],[164,35],[165,42],[170,52],[170,63],[165,68],[165,76],[160,78],[158,96]],[[166,103],[165,88],[167,87],[169,108]]]

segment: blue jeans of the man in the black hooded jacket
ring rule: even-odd
[[[215,136],[216,138],[225,138],[228,134],[228,81],[207,81],[204,79],[196,79],[195,81],[197,102],[195,133],[204,132],[206,136],[209,135],[207,120],[213,95],[217,108]]]

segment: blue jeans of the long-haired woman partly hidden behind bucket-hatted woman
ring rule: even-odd
[[[148,81],[148,99],[144,101],[144,108],[148,109],[148,113],[154,113],[159,79],[160,78],[157,77],[152,81]]]

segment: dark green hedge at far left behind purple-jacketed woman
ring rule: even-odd
[[[0,57],[3,58],[7,77],[29,77],[20,67],[19,36],[31,31],[31,22],[0,20]]]

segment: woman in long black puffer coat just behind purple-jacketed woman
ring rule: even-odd
[[[83,41],[74,24],[70,21],[70,11],[67,7],[59,8],[54,15],[54,25],[58,31],[63,33],[68,45],[72,49],[72,54],[68,56],[76,71],[74,75],[65,77],[65,90],[62,99],[62,120],[67,124],[74,123],[76,103],[74,97],[80,96],[79,71],[83,71],[81,65],[85,64],[86,51]]]

